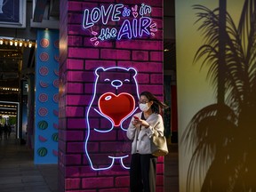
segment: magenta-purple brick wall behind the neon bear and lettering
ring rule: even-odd
[[[90,42],[88,30],[82,28],[84,9],[99,4],[120,3],[152,6],[151,18],[156,20],[155,36],[132,40],[104,41],[98,46]],[[106,171],[92,171],[84,155],[87,124],[85,114],[92,100],[94,70],[122,67],[136,68],[140,92],[151,91],[163,99],[163,0],[86,0],[60,1],[60,133],[59,191],[60,192],[128,192],[129,172],[119,164]],[[114,25],[115,22],[109,22]],[[99,89],[104,92],[104,87]],[[93,118],[92,126],[108,124],[106,119]],[[108,138],[92,135],[88,148],[93,158],[104,162],[104,151],[116,148],[123,140],[122,132],[110,132]],[[116,140],[114,142],[113,140]],[[102,143],[104,141],[104,143]],[[100,151],[100,152],[99,152]],[[156,191],[164,191],[164,158],[157,161]]]

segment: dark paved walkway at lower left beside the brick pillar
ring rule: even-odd
[[[0,140],[1,192],[58,192],[57,164],[35,165],[32,153],[14,135]]]

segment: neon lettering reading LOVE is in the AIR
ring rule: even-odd
[[[151,12],[151,6],[147,4],[140,4],[140,7],[136,4],[131,9],[124,4],[101,5],[100,8],[94,7],[91,12],[89,9],[84,10],[82,25],[84,29],[91,30],[93,37],[90,40],[94,45],[109,39],[155,36],[157,25],[150,18]],[[108,26],[109,22],[118,21],[122,22],[120,28]],[[99,31],[93,30],[97,23],[103,26]]]

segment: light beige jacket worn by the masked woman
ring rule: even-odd
[[[138,116],[141,118],[141,114],[137,113],[134,116]],[[163,136],[164,135],[164,122],[161,115],[153,113],[148,116],[146,120],[149,124],[148,128],[144,126],[135,127],[132,124],[134,118],[132,117],[131,123],[127,129],[126,135],[129,140],[132,141],[132,154],[139,153],[139,154],[151,154],[150,148],[150,138],[153,134],[158,134]]]

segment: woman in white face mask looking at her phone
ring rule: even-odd
[[[142,112],[132,117],[127,130],[127,137],[133,140],[130,189],[131,192],[155,192],[156,156],[152,156],[150,138],[155,132],[164,135],[164,122],[159,115],[159,108],[167,106],[151,92],[141,92],[139,107]]]

